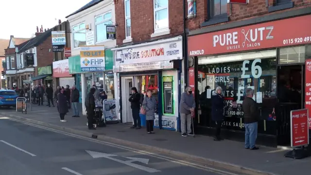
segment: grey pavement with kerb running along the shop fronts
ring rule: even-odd
[[[34,106],[27,114],[12,109],[0,109],[0,114],[19,121],[80,135],[97,140],[123,145],[137,150],[174,157],[177,159],[224,168],[239,174],[249,175],[294,175],[309,173],[311,157],[304,159],[285,158],[287,150],[259,146],[259,150],[245,150],[243,143],[232,140],[213,141],[207,136],[181,137],[180,133],[155,129],[154,135],[147,135],[145,129],[133,130],[128,123],[107,125],[90,131],[86,118],[65,117],[68,123],[60,123],[56,107]]]

